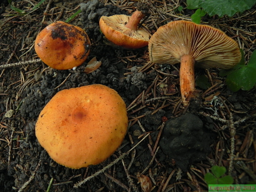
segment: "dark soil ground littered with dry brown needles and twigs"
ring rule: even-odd
[[[0,2],[0,192],[208,191],[204,175],[213,165],[226,167],[235,184],[256,181],[255,87],[234,93],[218,76],[219,69],[196,69],[196,77],[206,76],[210,87],[197,87],[202,101],[184,108],[179,64],[151,63],[147,46],[123,49],[100,32],[101,16],[129,15],[136,0],[46,0],[33,9],[38,2],[12,1],[24,13]],[[152,34],[194,13],[185,9],[183,0],[143,2],[149,5],[151,16],[145,25]],[[178,6],[184,9],[178,11]],[[75,70],[52,69],[38,59],[35,37],[46,25],[66,21],[80,8],[69,23],[88,34],[89,57]],[[254,5],[231,18],[205,16],[202,21],[237,41],[247,62],[255,49],[255,10]],[[102,65],[86,74],[84,68],[93,57]],[[120,148],[103,163],[66,168],[40,146],[35,122],[58,91],[96,83],[121,95],[129,130]]]

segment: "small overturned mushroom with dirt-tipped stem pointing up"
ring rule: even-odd
[[[145,3],[138,3],[132,16],[124,14],[100,17],[100,30],[112,43],[129,49],[148,45],[151,33],[144,25],[138,27],[140,20],[148,14]]]

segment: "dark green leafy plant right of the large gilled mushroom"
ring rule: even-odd
[[[245,65],[243,50],[242,59],[234,68],[219,71],[219,76],[227,76],[227,88],[233,92],[242,90],[250,90],[256,84],[256,50],[253,51],[251,57]]]

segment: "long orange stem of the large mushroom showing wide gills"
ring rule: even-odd
[[[183,100],[183,105],[189,103],[188,96],[195,90],[195,59],[190,55],[183,55],[180,58],[180,92]]]

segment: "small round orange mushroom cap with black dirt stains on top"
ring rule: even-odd
[[[48,66],[72,69],[81,65],[90,52],[90,40],[86,32],[63,21],[54,22],[40,33],[35,40],[35,52]]]

